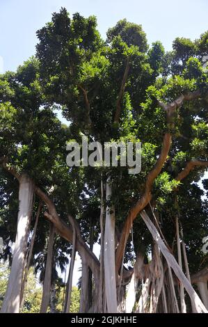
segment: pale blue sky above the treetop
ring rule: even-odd
[[[96,15],[103,38],[124,17],[142,24],[148,42],[161,40],[167,50],[177,36],[194,40],[208,29],[207,0],[0,0],[0,72],[15,70],[35,53],[35,31],[61,6]]]

